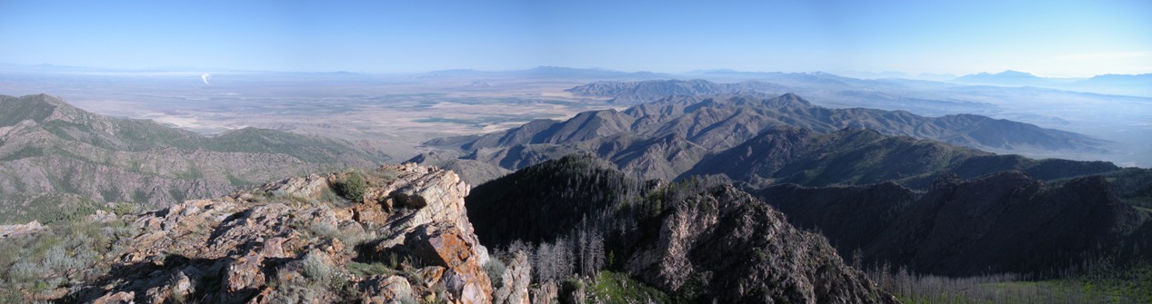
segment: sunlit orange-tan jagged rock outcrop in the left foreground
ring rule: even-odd
[[[135,245],[70,296],[97,303],[492,303],[487,250],[465,215],[470,188],[456,174],[384,166],[366,174],[361,199],[319,203],[334,197],[343,175],[294,177],[141,214],[131,225],[145,233],[123,240]],[[514,275],[505,280],[520,280]],[[517,292],[526,290],[507,290]]]

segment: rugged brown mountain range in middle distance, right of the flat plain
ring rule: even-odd
[[[876,132],[873,142],[881,134],[903,135],[976,149],[1099,151],[1102,144],[1078,134],[979,115],[924,117],[899,111],[829,109],[795,94],[746,93],[676,96],[623,112],[584,112],[567,121],[537,120],[494,134],[434,139],[426,145],[454,150],[456,154],[425,154],[412,161],[467,165],[445,164],[461,159],[515,170],[570,153],[591,153],[644,178],[674,178],[710,154],[736,147],[780,126],[825,134],[844,128],[870,129]],[[460,170],[472,182],[495,177],[469,176],[467,172],[475,170],[469,168]],[[904,174],[910,177],[912,173]]]

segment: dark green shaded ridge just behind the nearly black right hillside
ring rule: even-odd
[[[819,134],[781,126],[705,157],[679,178],[719,175],[751,187],[896,182],[927,189],[940,174],[971,178],[1000,170],[1025,170],[1051,181],[1119,169],[1105,161],[996,155],[931,139],[887,136],[870,129],[846,128]]]

